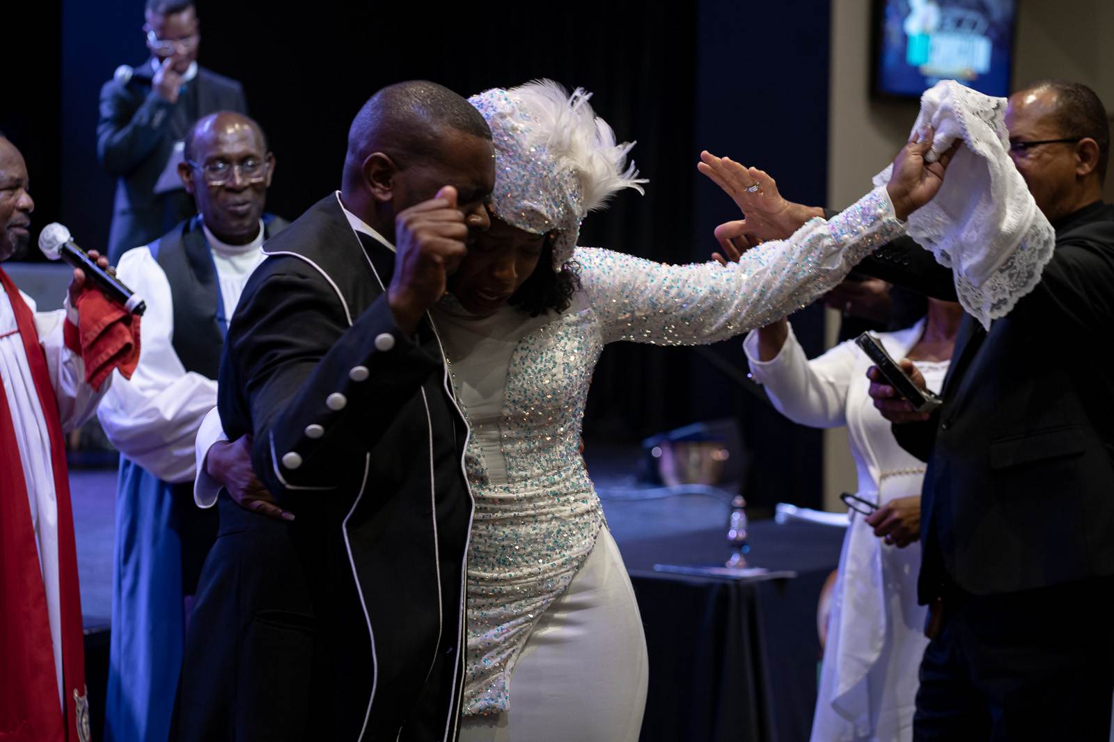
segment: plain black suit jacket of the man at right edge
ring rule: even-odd
[[[1053,226],[1033,291],[989,333],[964,318],[944,406],[893,426],[929,463],[922,602],[949,578],[985,595],[1114,574],[1114,207]],[[955,299],[951,271],[908,239],[858,270]]]

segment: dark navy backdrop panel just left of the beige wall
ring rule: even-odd
[[[827,0],[697,4],[696,152],[762,168],[792,200],[827,202],[830,17]],[[691,257],[706,259],[710,246],[717,247],[711,230],[739,212],[698,174],[691,199]],[[805,353],[820,354],[823,309],[809,307],[792,321]],[[740,345],[732,339],[710,350],[745,370]],[[759,512],[779,502],[820,507],[821,433],[789,422],[695,355],[688,414],[707,419],[731,410],[740,421],[753,462],[743,484],[749,504]]]

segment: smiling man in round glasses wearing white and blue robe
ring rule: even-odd
[[[121,454],[109,742],[169,734],[185,622],[217,528],[216,511],[194,505],[194,438],[216,405],[228,318],[263,261],[263,241],[286,224],[263,211],[274,165],[252,119],[231,111],[202,118],[178,165],[196,216],[120,259],[119,276],[148,309],[139,367],[130,380],[115,379],[99,410]]]

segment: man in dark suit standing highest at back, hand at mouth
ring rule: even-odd
[[[120,66],[100,90],[97,156],[117,177],[108,255],[145,245],[194,212],[177,165],[202,116],[247,112],[240,82],[197,65],[201,24],[193,0],[147,0],[150,59]]]

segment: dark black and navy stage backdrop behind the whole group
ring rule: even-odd
[[[339,187],[348,125],[383,85],[427,78],[462,95],[549,77],[593,105],[633,157],[646,195],[620,194],[589,217],[583,245],[663,261],[707,259],[712,229],[736,218],[695,168],[701,149],[773,174],[785,195],[825,202],[830,9],[823,0],[739,3],[273,3],[198,0],[199,62],[241,80],[277,158],[268,210],[297,217]],[[6,16],[9,11],[6,10]],[[59,220],[86,246],[108,236],[113,180],[96,159],[100,86],[146,59],[141,0],[39,0],[11,9],[33,32],[22,97],[0,129],[22,150],[36,225]],[[13,60],[9,59],[9,63]],[[863,75],[868,71],[863,70]],[[31,101],[35,101],[33,103]],[[810,355],[822,313],[794,316]],[[745,370],[737,340],[712,352]],[[784,421],[692,349],[620,344],[596,370],[589,446],[636,442],[735,416],[756,466],[753,505],[819,506],[820,434]]]

